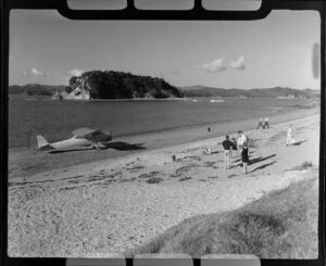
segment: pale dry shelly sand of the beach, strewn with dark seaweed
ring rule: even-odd
[[[292,123],[298,141],[292,147],[285,145],[288,123],[246,131],[252,161],[247,175],[238,153],[231,169],[223,169],[218,144],[223,138],[218,137],[12,177],[9,255],[105,257],[123,253],[185,218],[234,210],[310,178],[312,169],[291,168],[305,161],[318,166],[319,117]],[[205,148],[214,153],[203,155]]]

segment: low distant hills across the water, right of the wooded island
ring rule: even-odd
[[[246,97],[246,98],[318,98],[318,90],[298,90],[287,87],[262,89],[223,89],[205,86],[178,87],[185,97]]]

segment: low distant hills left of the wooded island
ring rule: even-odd
[[[66,86],[50,86],[40,84],[27,84],[23,86],[9,86],[9,94],[22,96],[52,96],[55,91],[63,91]]]

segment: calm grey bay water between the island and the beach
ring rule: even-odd
[[[26,101],[9,103],[9,148],[28,147],[36,134],[50,142],[79,127],[113,130],[113,136],[160,131],[249,117],[271,116],[279,109],[316,102],[309,99],[209,99],[193,101],[75,102]]]

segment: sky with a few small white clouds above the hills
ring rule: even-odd
[[[128,22],[13,10],[9,80],[67,85],[74,75],[108,69],[161,77],[174,86],[319,89],[312,73],[319,23],[315,11],[273,11],[249,22]]]

